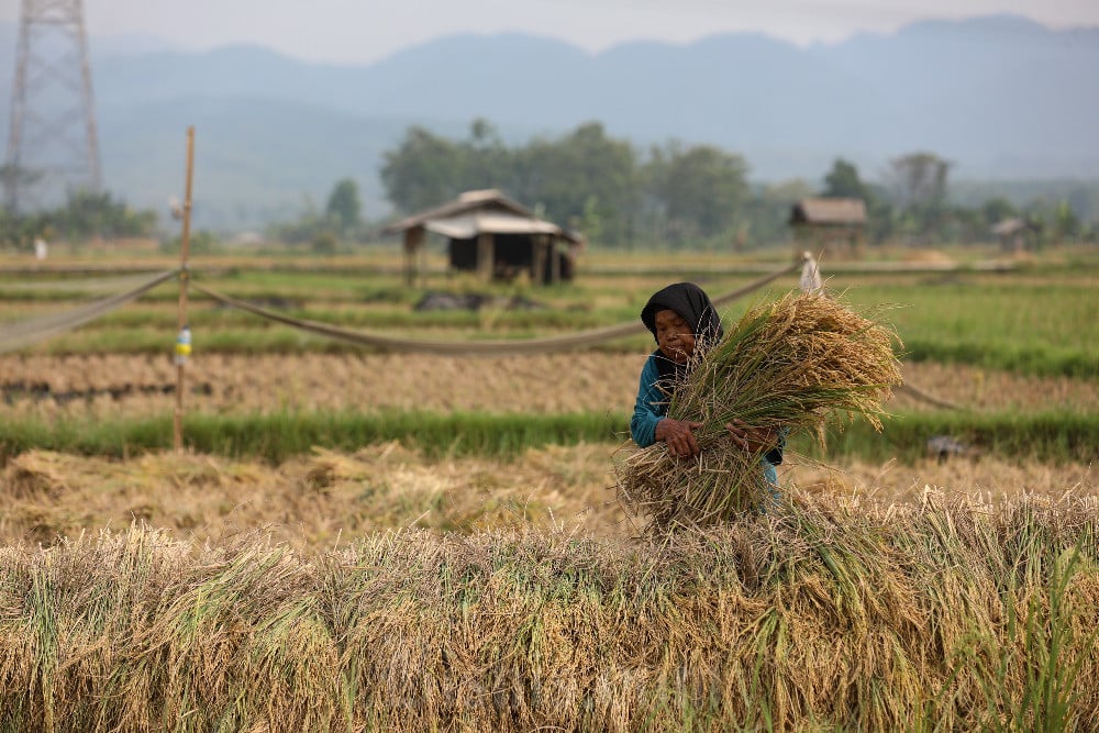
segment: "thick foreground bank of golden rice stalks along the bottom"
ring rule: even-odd
[[[660,543],[8,547],[0,729],[1095,730],[1096,520],[795,496]]]

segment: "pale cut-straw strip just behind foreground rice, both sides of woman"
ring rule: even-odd
[[[0,473],[0,544],[53,544],[134,520],[176,540],[215,544],[262,530],[301,552],[403,527],[464,534],[528,527],[624,538],[639,527],[615,501],[615,449],[547,446],[508,462],[431,460],[388,443],[349,454],[315,451],[279,466],[190,453],[109,460],[35,451]],[[779,467],[779,481],[865,506],[915,504],[926,490],[984,502],[1099,493],[1090,466],[996,457],[824,468],[791,456]]]

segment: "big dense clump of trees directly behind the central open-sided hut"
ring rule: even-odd
[[[599,244],[630,245],[639,236],[680,244],[737,236],[748,200],[747,165],[713,146],[668,144],[642,163],[634,147],[588,122],[559,137],[509,148],[476,119],[464,141],[410,127],[385,154],[382,184],[401,211],[437,206],[464,190],[499,188],[558,224]]]

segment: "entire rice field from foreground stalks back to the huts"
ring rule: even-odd
[[[1096,730],[1099,252],[872,255],[822,273],[897,335],[882,430],[795,441],[775,506],[658,536],[617,491],[637,314],[785,252],[585,253],[552,288],[436,260],[410,286],[380,248],[199,259],[349,331],[639,330],[384,352],[192,289],[179,452],[176,280],[0,353],[0,731]],[[0,342],[175,266],[3,255]]]

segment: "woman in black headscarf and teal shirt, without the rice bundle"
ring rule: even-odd
[[[723,335],[721,316],[709,296],[693,282],[676,282],[653,293],[641,311],[641,320],[656,338],[657,348],[641,369],[637,401],[630,420],[633,442],[647,447],[663,441],[677,457],[698,455],[695,431],[700,422],[668,418],[671,390],[687,375],[691,357],[701,356]],[[733,443],[742,449],[762,453],[764,476],[778,486],[775,466],[782,463],[780,434],[766,427],[752,427],[741,420],[725,424]]]

